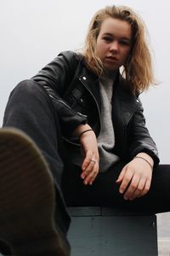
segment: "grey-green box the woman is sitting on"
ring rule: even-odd
[[[68,233],[71,256],[157,255],[156,215],[123,216],[105,207],[68,210],[72,218]]]

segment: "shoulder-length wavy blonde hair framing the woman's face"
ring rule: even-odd
[[[88,68],[99,76],[103,73],[104,67],[95,49],[101,24],[108,17],[127,21],[132,27],[132,49],[123,65],[122,76],[134,94],[147,90],[150,84],[155,84],[150,49],[146,43],[147,30],[144,21],[128,7],[106,6],[94,15],[89,24],[85,47],[82,51]]]

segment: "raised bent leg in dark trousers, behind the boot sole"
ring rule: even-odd
[[[40,85],[38,85],[37,83],[31,80],[26,80],[24,82],[21,82],[14,89],[14,91],[12,92],[9,98],[8,105],[4,115],[3,126],[6,126],[6,127],[13,126],[22,131],[25,131],[26,134],[29,135],[34,140],[35,143],[37,143],[38,148],[41,149],[41,153],[47,160],[48,167],[50,171],[53,173],[53,177],[54,177],[54,183],[51,183],[50,175],[48,175],[49,183],[52,186],[55,186],[55,199],[57,204],[57,207],[55,207],[55,215],[57,216],[56,222],[57,222],[57,225],[59,226],[59,229],[61,229],[65,233],[66,230],[68,229],[70,218],[68,217],[68,214],[65,211],[65,202],[63,201],[62,193],[59,189],[60,180],[61,180],[62,171],[63,171],[63,162],[61,160],[60,155],[58,154],[59,149],[61,148],[59,147],[60,146],[59,123],[54,113],[53,105],[50,99],[48,98],[46,91],[43,90]],[[13,136],[13,139],[14,137],[15,136]],[[4,145],[4,144],[1,144],[1,145]],[[14,149],[14,148],[10,148],[10,149]],[[1,151],[1,154],[2,152],[3,151]],[[41,155],[41,153],[39,152],[38,154]],[[46,169],[47,171],[48,168],[47,166],[44,166],[44,162],[45,161],[43,161],[42,166],[44,170]],[[20,169],[22,169],[21,167]],[[19,166],[17,168],[19,168]],[[16,172],[15,168],[13,171]],[[20,174],[21,174],[21,171],[22,170],[19,171]],[[41,171],[46,172],[43,170]],[[29,170],[27,169],[26,172],[29,172]],[[27,174],[28,173],[26,173],[26,175]],[[34,174],[36,174],[35,171],[34,171]],[[34,175],[32,174],[32,178],[33,177]],[[41,179],[37,178],[37,181],[38,180],[41,183]],[[18,182],[19,181],[20,180],[18,180]],[[7,183],[8,183],[8,180],[7,180]],[[10,184],[8,189],[10,189]],[[33,191],[33,193],[34,192],[35,191]],[[53,197],[53,191],[50,197],[51,198]]]

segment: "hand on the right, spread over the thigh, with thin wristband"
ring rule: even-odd
[[[148,154],[145,155],[148,157]],[[151,162],[153,163],[152,159]],[[133,199],[145,195],[150,190],[151,177],[152,169],[150,165],[141,158],[134,158],[122,168],[116,183],[120,183],[119,192],[124,193],[123,198],[133,201]]]

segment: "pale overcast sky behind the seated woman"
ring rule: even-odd
[[[169,163],[170,2],[127,0],[0,0],[0,125],[9,92],[29,79],[62,50],[83,45],[92,15],[105,5],[138,11],[150,32],[156,78],[161,84],[141,96],[146,125],[161,163]]]

